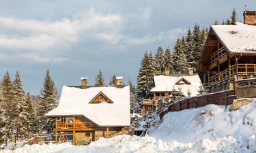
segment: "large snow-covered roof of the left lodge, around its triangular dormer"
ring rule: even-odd
[[[99,92],[103,92],[113,103],[90,104],[89,101]],[[63,86],[59,106],[45,116],[72,115],[83,115],[100,126],[130,126],[130,87]]]

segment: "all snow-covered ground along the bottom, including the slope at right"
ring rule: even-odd
[[[255,135],[256,103],[234,112],[208,105],[167,114],[162,124],[150,129],[145,137],[119,135],[101,138],[89,146],[25,145],[0,152],[255,152]]]

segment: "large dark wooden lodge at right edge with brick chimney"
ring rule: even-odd
[[[244,23],[210,27],[199,65],[210,92],[256,86],[255,25],[256,12],[245,11]]]

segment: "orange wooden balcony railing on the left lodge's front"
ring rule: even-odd
[[[92,122],[58,122],[56,127],[57,129],[89,129],[98,125]]]

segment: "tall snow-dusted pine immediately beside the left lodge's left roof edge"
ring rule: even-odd
[[[55,126],[55,120],[46,118],[44,115],[57,106],[57,88],[51,78],[50,71],[46,71],[44,86],[41,90],[40,103],[38,103],[38,125],[40,133],[51,132]]]

